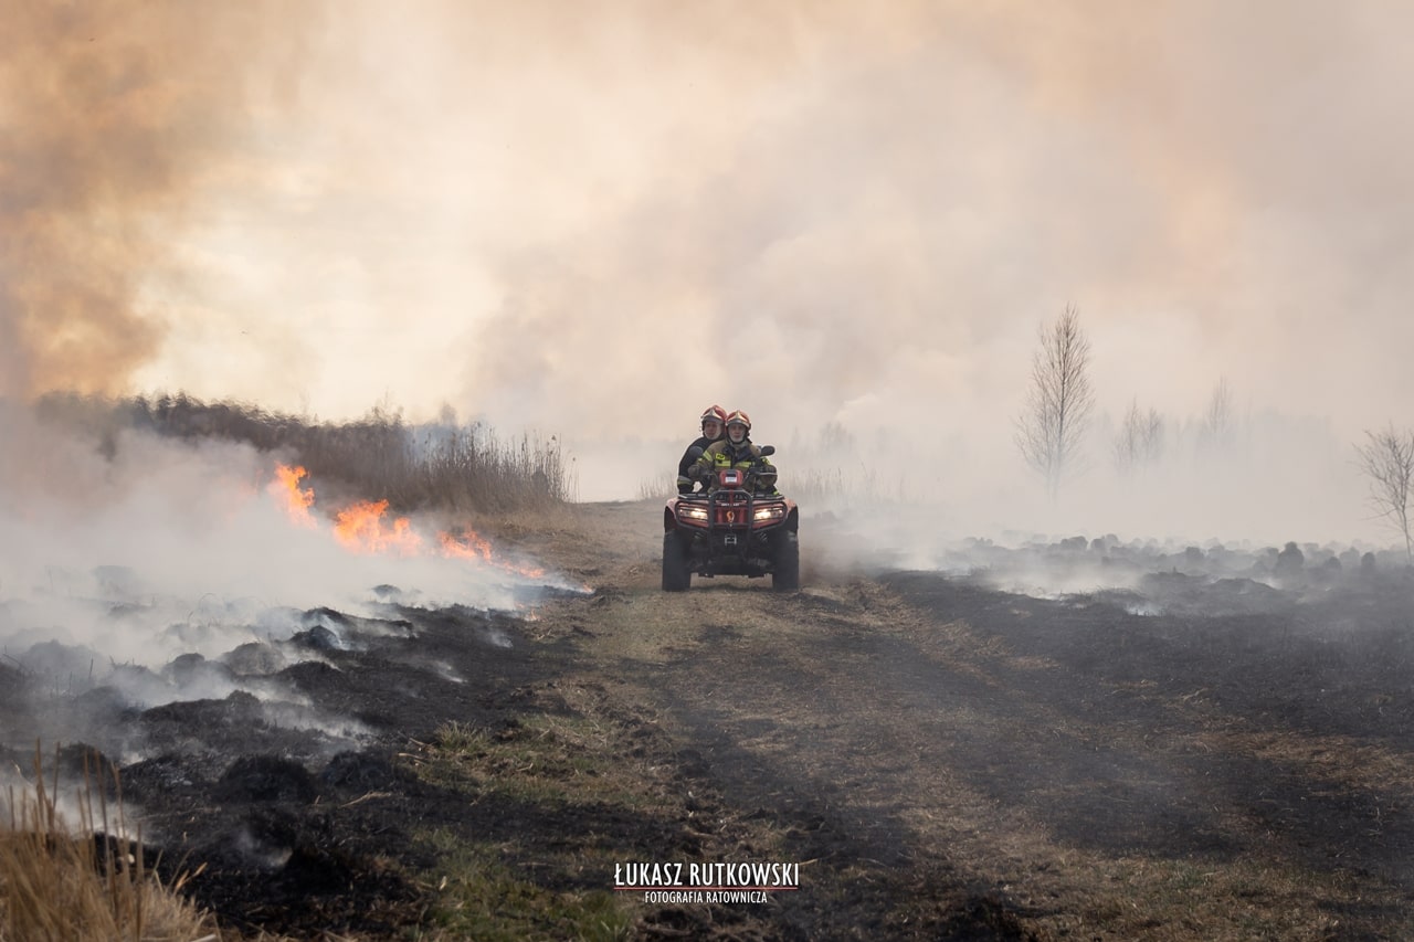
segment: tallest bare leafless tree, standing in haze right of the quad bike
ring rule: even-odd
[[[1041,348],[1031,364],[1031,390],[1017,419],[1017,447],[1046,479],[1052,498],[1075,465],[1094,392],[1090,388],[1090,341],[1073,306],[1055,324],[1041,325]]]

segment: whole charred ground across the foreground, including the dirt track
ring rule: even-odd
[[[221,697],[144,707],[76,680],[85,652],[8,652],[7,765],[35,738],[116,764],[147,847],[252,938],[1414,935],[1401,573],[1082,540],[863,574],[806,521],[805,591],[665,594],[658,516],[499,528],[592,588],[530,618],[314,610],[151,678]],[[1130,587],[1010,591],[1021,563]],[[800,890],[612,892],[619,861],[765,860]]]

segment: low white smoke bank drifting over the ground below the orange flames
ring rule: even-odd
[[[276,458],[247,446],[130,429],[75,434],[13,407],[0,412],[0,431],[23,446],[0,455],[0,652],[61,685],[130,668],[113,683],[151,706],[178,692],[148,672],[184,655],[215,661],[315,624],[338,635],[351,618],[396,621],[399,607],[518,610],[536,587],[559,584],[448,557],[417,519],[409,529],[427,529],[416,549],[351,547],[334,532],[337,508],[291,515]]]

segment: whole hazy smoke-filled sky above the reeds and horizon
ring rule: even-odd
[[[1360,3],[0,0],[0,392],[571,440],[1010,447],[1414,400],[1411,14]],[[1014,454],[1010,455],[1014,460]]]

